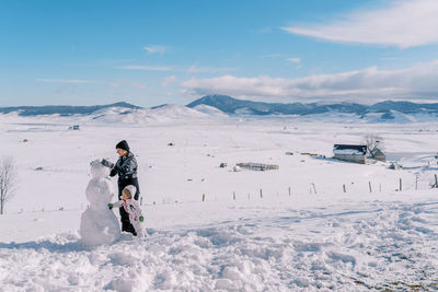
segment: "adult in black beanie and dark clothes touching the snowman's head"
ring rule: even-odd
[[[116,152],[118,154],[118,161],[116,164],[102,160],[102,164],[111,168],[110,176],[118,175],[117,186],[118,186],[118,199],[122,200],[123,190],[126,186],[132,185],[136,190],[131,196],[134,200],[138,200],[140,195],[140,187],[138,185],[137,178],[137,160],[135,155],[129,151],[129,145],[126,140],[123,140],[116,144]],[[136,235],[136,230],[134,229],[131,222],[129,221],[129,214],[126,212],[125,208],[120,207],[120,221],[122,231],[130,232]]]

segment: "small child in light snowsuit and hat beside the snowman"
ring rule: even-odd
[[[137,188],[135,186],[126,186],[122,191],[122,200],[114,203],[110,202],[108,208],[110,210],[112,210],[113,208],[123,208],[129,217],[130,223],[134,226],[137,237],[141,238],[145,236],[142,227],[142,222],[145,221],[145,218],[141,214],[141,209],[138,206],[138,202],[132,200],[132,194],[136,194],[136,191]]]

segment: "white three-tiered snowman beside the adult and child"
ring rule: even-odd
[[[108,168],[99,160],[90,165],[92,179],[85,190],[90,206],[82,213],[79,234],[88,246],[110,245],[120,238],[120,226],[107,206],[114,195],[105,178]]]

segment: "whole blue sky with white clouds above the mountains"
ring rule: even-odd
[[[0,106],[438,97],[438,1],[0,2]]]

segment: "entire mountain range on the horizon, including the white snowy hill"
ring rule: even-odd
[[[20,106],[0,107],[0,114],[49,118],[53,115],[95,122],[149,124],[189,121],[192,119],[252,117],[293,118],[345,122],[425,122],[438,118],[438,103],[417,104],[385,101],[373,105],[357,103],[263,103],[237,100],[227,95],[207,95],[188,105],[164,104],[143,108],[120,102],[95,106]]]

